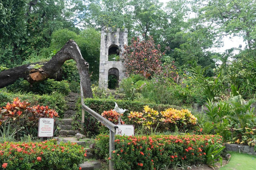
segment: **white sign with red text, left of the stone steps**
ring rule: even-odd
[[[39,118],[38,137],[53,137],[54,119]]]

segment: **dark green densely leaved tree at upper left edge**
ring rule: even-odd
[[[0,0],[0,64],[10,66],[21,62],[14,56],[20,43],[25,42],[27,0]]]

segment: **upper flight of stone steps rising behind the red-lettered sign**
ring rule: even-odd
[[[59,136],[60,137],[73,137],[76,133],[79,133],[79,131],[72,130],[72,117],[76,114],[76,102],[79,98],[78,93],[69,93],[68,96],[65,97],[68,105],[68,110],[65,111],[63,115],[63,119],[59,119],[57,122],[58,126],[60,127]]]

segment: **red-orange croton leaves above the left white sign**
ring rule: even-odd
[[[8,119],[15,121],[20,117],[28,116],[30,121],[34,121],[39,117],[53,118],[59,117],[55,110],[49,109],[48,106],[29,107],[30,103],[21,102],[20,99],[14,98],[13,103],[9,102],[3,108],[0,107],[0,125]]]

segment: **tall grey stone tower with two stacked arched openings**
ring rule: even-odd
[[[126,76],[122,61],[124,45],[127,45],[127,41],[127,29],[124,29],[124,32],[120,32],[119,28],[117,28],[116,31],[111,28],[107,30],[101,29],[99,73],[100,88],[109,88],[111,85],[108,80],[111,78],[113,83],[113,77],[114,81],[116,81],[116,87],[118,87],[119,82]]]

